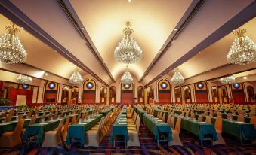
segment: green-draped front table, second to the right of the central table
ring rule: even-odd
[[[175,123],[177,120],[177,115],[175,116]],[[185,117],[181,117],[181,129],[185,129],[188,132],[193,133],[194,135],[198,136],[201,144],[202,140],[205,137],[205,135],[211,135],[212,141],[217,141],[217,132],[214,128],[214,125],[211,123],[205,123],[205,122],[194,122],[193,120],[187,119]]]

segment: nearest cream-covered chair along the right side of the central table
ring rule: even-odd
[[[140,130],[140,117],[137,117],[137,124],[136,129],[128,129],[128,136],[129,140],[127,141],[127,146],[138,146],[140,147],[140,140],[139,140],[139,130]]]

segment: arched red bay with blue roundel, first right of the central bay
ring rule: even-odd
[[[171,103],[171,84],[165,78],[161,79],[158,84],[159,103]]]

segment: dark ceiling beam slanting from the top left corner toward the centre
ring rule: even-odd
[[[29,17],[27,17],[26,14],[20,11],[20,9],[13,5],[11,2],[0,1],[0,13],[7,17],[9,20],[16,23],[18,26],[26,29],[27,32],[34,35],[36,38],[47,44],[49,47],[56,50],[67,60],[72,62],[74,65],[88,72],[88,74],[91,74],[93,77],[95,76],[94,72],[91,71],[90,68],[85,66],[85,64],[82,63],[79,59],[77,59],[76,56],[73,56],[72,53],[69,53],[69,51],[66,50],[65,47],[63,47],[54,38],[48,35],[47,32],[45,32],[41,27],[39,27],[35,22],[33,22]],[[109,86],[109,84],[106,84],[106,82],[98,76],[97,80],[100,81],[102,84]]]

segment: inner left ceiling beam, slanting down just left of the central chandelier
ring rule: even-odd
[[[86,46],[91,50],[91,53],[94,54],[94,56],[98,59],[100,62],[100,65],[104,68],[104,70],[109,74],[109,78],[113,82],[115,82],[115,79],[113,78],[112,74],[110,73],[109,69],[106,66],[106,63],[103,61],[100,54],[97,52],[97,48],[94,46],[93,42],[91,41],[91,38],[88,35],[88,32],[86,32],[86,29],[82,30],[81,28],[85,28],[83,26],[81,20],[79,19],[78,15],[76,14],[76,11],[74,8],[72,8],[72,5],[69,1],[66,0],[57,0],[60,7],[63,9],[63,11],[66,13],[66,16],[69,17],[69,20],[73,23],[73,25],[76,27],[76,30],[79,32],[79,35],[86,41]],[[96,78],[96,77],[95,77]]]

